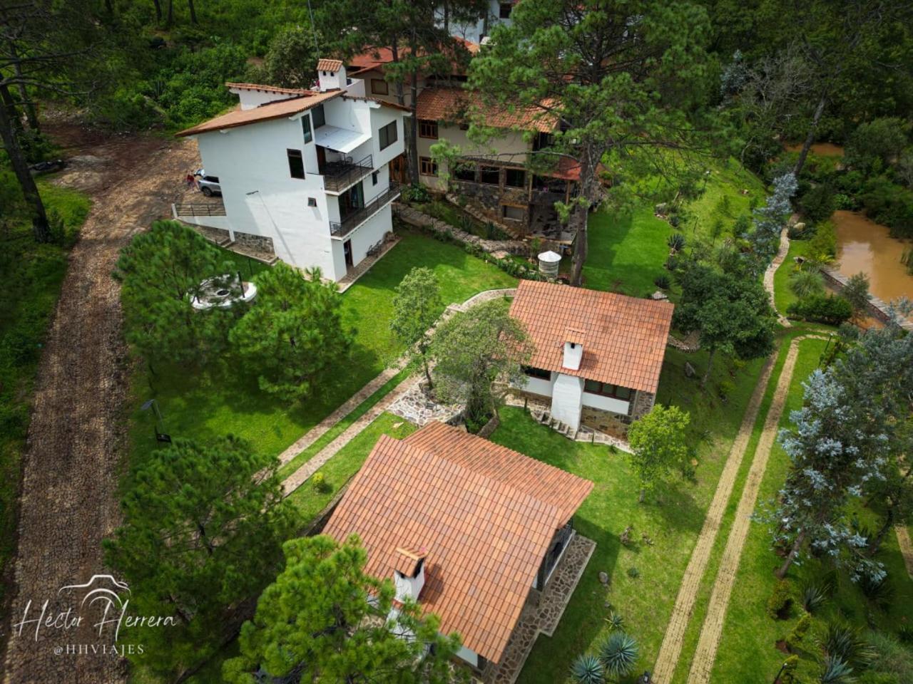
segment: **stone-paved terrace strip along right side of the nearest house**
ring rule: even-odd
[[[530,590],[530,597],[520,614],[517,627],[497,666],[489,663],[482,673],[484,684],[513,684],[540,634],[551,637],[561,621],[564,608],[571,601],[586,564],[596,549],[591,539],[574,534],[561,562],[551,575],[544,592]]]

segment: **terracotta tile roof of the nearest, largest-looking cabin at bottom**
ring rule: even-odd
[[[359,534],[367,571],[393,578],[424,548],[419,605],[441,631],[502,657],[551,539],[593,487],[568,472],[440,423],[382,436],[324,528]]]

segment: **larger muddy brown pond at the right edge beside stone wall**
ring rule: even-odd
[[[887,234],[887,226],[870,221],[858,212],[834,212],[837,229],[837,268],[843,275],[862,271],[868,276],[869,292],[886,302],[907,296],[913,299],[913,275],[900,263],[909,241]]]

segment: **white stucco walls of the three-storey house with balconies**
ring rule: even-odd
[[[371,202],[388,189],[387,163],[404,149],[403,112],[346,98],[324,103],[324,112],[332,126],[371,131],[372,139],[351,154],[355,160],[373,155],[378,183],[373,185],[370,173],[362,180],[364,200]],[[197,136],[205,170],[219,177],[226,207],[225,218],[206,217],[199,222],[227,228],[233,239],[236,232],[271,237],[282,261],[299,268],[319,266],[324,276],[339,280],[345,275],[342,244],[330,235],[330,222],[339,221],[339,199],[324,192],[323,179],[317,173],[316,144],[314,140],[304,142],[301,116],[310,116],[310,112]],[[392,120],[397,121],[397,141],[380,150],[377,130]],[[302,151],[304,179],[291,177],[286,150]],[[310,207],[309,198],[317,206]],[[367,249],[392,227],[387,207],[350,235],[354,264],[362,261]]]

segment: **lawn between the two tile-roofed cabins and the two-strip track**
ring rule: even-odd
[[[555,636],[537,640],[519,677],[521,684],[563,681],[573,658],[596,648],[608,634],[606,602],[624,616],[626,629],[640,644],[635,669],[653,668],[691,549],[762,366],[758,360],[735,370],[720,363],[708,391],[700,392],[697,381],[685,377],[686,361],[699,369],[706,354],[667,350],[657,400],[691,414],[689,432],[698,447],[697,482],[677,477],[643,504],[637,503],[637,483],[621,452],[569,441],[536,424],[521,409],[502,411],[492,440],[595,483],[575,517],[575,527],[596,542],[596,550]],[[716,388],[726,378],[734,381],[735,390],[723,402]],[[634,525],[636,543],[624,547],[619,535],[629,524]],[[641,542],[641,534],[654,544]],[[639,573],[635,578],[627,575],[632,567]],[[599,583],[601,571],[610,577],[608,591]]]

